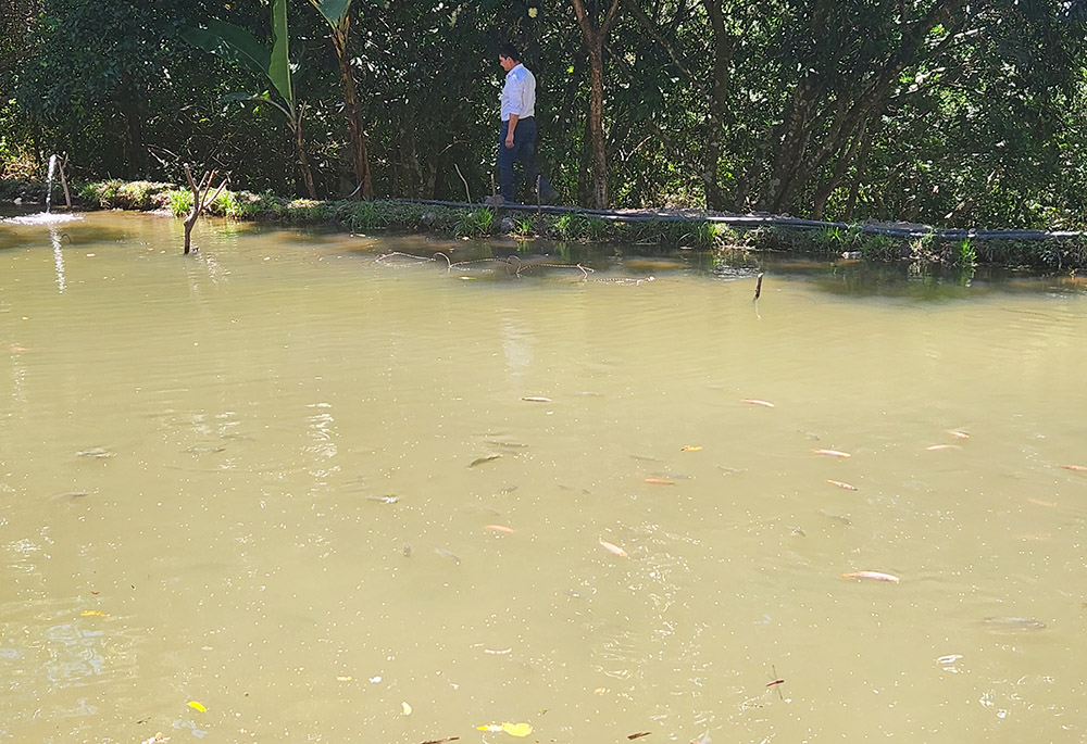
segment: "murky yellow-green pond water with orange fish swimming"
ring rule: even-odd
[[[180,229],[0,223],[0,741],[1087,736],[1076,283]]]

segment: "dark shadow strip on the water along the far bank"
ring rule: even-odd
[[[100,217],[49,224],[18,224],[12,217],[35,217],[40,205],[0,205],[0,250],[42,244],[60,231],[62,248],[90,243],[124,243],[146,239],[147,220],[168,220],[162,215],[126,213],[103,222]],[[63,215],[68,217],[68,215]],[[992,291],[1025,294],[1080,294],[1087,277],[978,266],[955,267],[920,263],[870,263],[863,260],[819,260],[790,253],[744,250],[708,251],[658,249],[645,244],[552,242],[491,238],[464,240],[435,235],[349,234],[325,227],[284,228],[262,223],[209,220],[218,240],[240,236],[282,237],[315,249],[376,258],[390,256],[396,265],[429,265],[479,278],[554,277],[579,280],[578,265],[597,280],[634,281],[679,276],[719,280],[749,279],[765,273],[767,280],[790,277],[809,282],[816,291],[849,298],[903,298],[920,302],[944,302],[983,297]],[[448,258],[448,261],[447,261]]]

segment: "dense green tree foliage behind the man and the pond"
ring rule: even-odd
[[[0,177],[67,152],[85,179],[179,182],[188,161],[303,194],[308,159],[322,198],[364,167],[377,196],[479,201],[512,40],[571,203],[1083,226],[1085,4],[623,0],[605,23],[612,0],[286,0],[287,101],[186,40],[229,24],[273,49],[273,3],[0,0]]]

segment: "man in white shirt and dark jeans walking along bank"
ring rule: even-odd
[[[498,135],[498,178],[502,199],[515,202],[517,182],[514,163],[521,163],[529,188],[535,189],[539,178],[540,201],[553,200],[554,190],[540,174],[536,162],[536,76],[521,64],[521,55],[512,43],[498,50],[498,63],[505,71],[502,87],[502,127]]]

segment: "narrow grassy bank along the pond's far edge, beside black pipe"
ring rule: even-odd
[[[55,187],[54,188],[59,188]],[[77,188],[77,201],[89,209],[162,211],[188,214],[192,193],[172,184],[96,181]],[[57,203],[57,193],[53,203]],[[0,200],[45,201],[45,186],[0,180]],[[580,212],[564,214],[502,213],[487,207],[450,207],[400,201],[313,201],[282,199],[271,192],[224,190],[208,213],[240,220],[297,225],[337,225],[352,232],[396,230],[484,238],[508,235],[525,240],[616,242],[647,248],[791,251],[816,257],[841,256],[878,262],[909,261],[970,268],[977,264],[1030,266],[1058,270],[1087,268],[1084,238],[1019,240],[987,238],[942,240],[933,235],[898,238],[849,227],[736,228],[704,219],[623,222]]]

